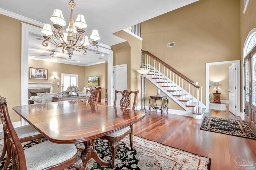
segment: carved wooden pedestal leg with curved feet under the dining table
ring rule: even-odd
[[[92,140],[88,140],[84,142],[85,149],[82,151],[82,154],[81,154],[81,159],[83,161],[82,170],[86,168],[86,164],[90,158],[93,158],[98,164],[105,165],[105,166],[111,165],[111,161],[102,160],[98,156],[96,150],[92,149],[91,145],[92,145]]]

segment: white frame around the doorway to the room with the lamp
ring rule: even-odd
[[[206,113],[209,112],[209,66],[235,64],[236,67],[236,115],[240,116],[240,61],[221,61],[214,63],[206,63]]]

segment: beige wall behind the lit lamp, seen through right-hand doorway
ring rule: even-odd
[[[220,86],[218,86],[218,93],[221,93],[220,100],[229,100],[229,97],[228,97],[228,90],[229,90],[228,67],[229,66],[231,66],[231,64],[209,66],[210,99],[213,100],[213,93],[216,92],[216,86],[214,86],[214,83],[219,82]]]

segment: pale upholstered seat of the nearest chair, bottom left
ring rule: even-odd
[[[56,144],[42,142],[24,150],[28,170],[42,170],[60,164],[74,157],[77,153],[74,144]]]

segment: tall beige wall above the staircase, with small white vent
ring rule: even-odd
[[[144,51],[204,86],[205,103],[205,63],[240,60],[240,1],[200,0],[142,22],[141,35]]]

